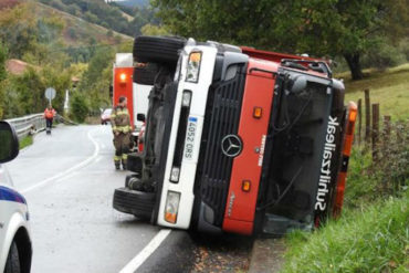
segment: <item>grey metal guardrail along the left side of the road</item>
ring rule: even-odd
[[[10,123],[19,138],[25,137],[29,134],[35,134],[45,129],[45,119],[43,114],[32,114],[23,117],[6,119]]]

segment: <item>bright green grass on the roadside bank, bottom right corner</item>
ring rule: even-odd
[[[347,210],[315,233],[287,237],[282,272],[408,272],[409,195]]]

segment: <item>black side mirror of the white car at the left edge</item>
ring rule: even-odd
[[[0,122],[0,164],[13,160],[19,155],[19,138],[14,128]]]

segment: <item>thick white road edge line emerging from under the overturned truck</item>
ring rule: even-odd
[[[154,239],[127,264],[119,273],[133,273],[135,272],[150,255],[156,251],[157,248],[165,241],[171,230],[160,230]]]

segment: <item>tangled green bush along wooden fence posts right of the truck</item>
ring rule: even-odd
[[[366,147],[354,147],[345,189],[345,204],[359,208],[368,201],[401,196],[409,187],[408,124],[390,125],[391,133],[380,134],[378,160],[373,161]]]

